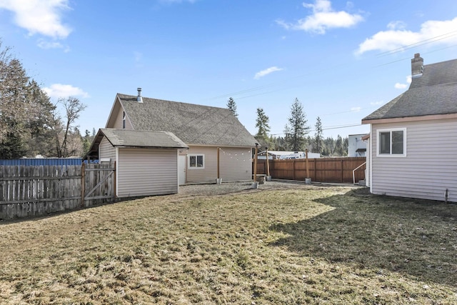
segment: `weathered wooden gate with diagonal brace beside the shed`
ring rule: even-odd
[[[81,206],[116,199],[116,162],[83,164],[81,174]]]

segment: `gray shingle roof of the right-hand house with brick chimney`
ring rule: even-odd
[[[423,66],[409,89],[362,121],[457,113],[457,59]]]

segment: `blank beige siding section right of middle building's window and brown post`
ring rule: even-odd
[[[251,149],[221,147],[219,171],[222,181],[252,180]]]

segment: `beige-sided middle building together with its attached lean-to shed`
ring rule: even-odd
[[[169,132],[176,136],[176,141],[179,140],[179,143],[184,145],[184,149],[182,147],[176,149],[172,146],[175,152],[174,160],[164,161],[161,159],[163,156],[159,156],[157,152],[135,150],[131,146],[121,147],[121,142],[118,143],[119,145],[116,144],[117,146],[114,145],[114,139],[120,135],[118,131],[130,131],[124,136],[134,137],[138,141],[141,136],[151,136],[151,134],[144,134],[146,131]],[[136,187],[136,184],[125,181],[132,179],[134,181],[136,176],[141,176],[141,181],[148,184],[146,189],[154,189],[151,184],[158,183],[151,177],[157,176],[156,173],[149,171],[151,176],[145,176],[144,168],[140,168],[136,163],[139,160],[149,168],[161,169],[161,176],[164,177],[161,179],[163,190],[171,188],[168,181],[178,181],[178,184],[198,184],[216,183],[216,179],[252,180],[251,149],[255,146],[256,139],[229,109],[150,99],[141,96],[141,89],[139,89],[137,96],[116,94],[106,122],[106,129],[102,129],[101,135],[108,138],[106,134],[110,132],[114,133],[111,134],[112,139],[96,137],[86,156],[116,159],[119,166],[119,196],[134,194],[143,196],[142,190],[146,186],[141,184]],[[123,141],[126,140],[123,139]],[[149,149],[157,148],[158,144],[155,141],[154,138],[146,141],[146,146]],[[126,148],[134,150],[125,150]],[[168,169],[168,172],[165,173],[164,169]],[[129,189],[123,189],[127,185]],[[157,193],[157,191],[154,192]]]

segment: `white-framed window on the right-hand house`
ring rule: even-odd
[[[406,156],[406,128],[379,129],[377,156]]]

